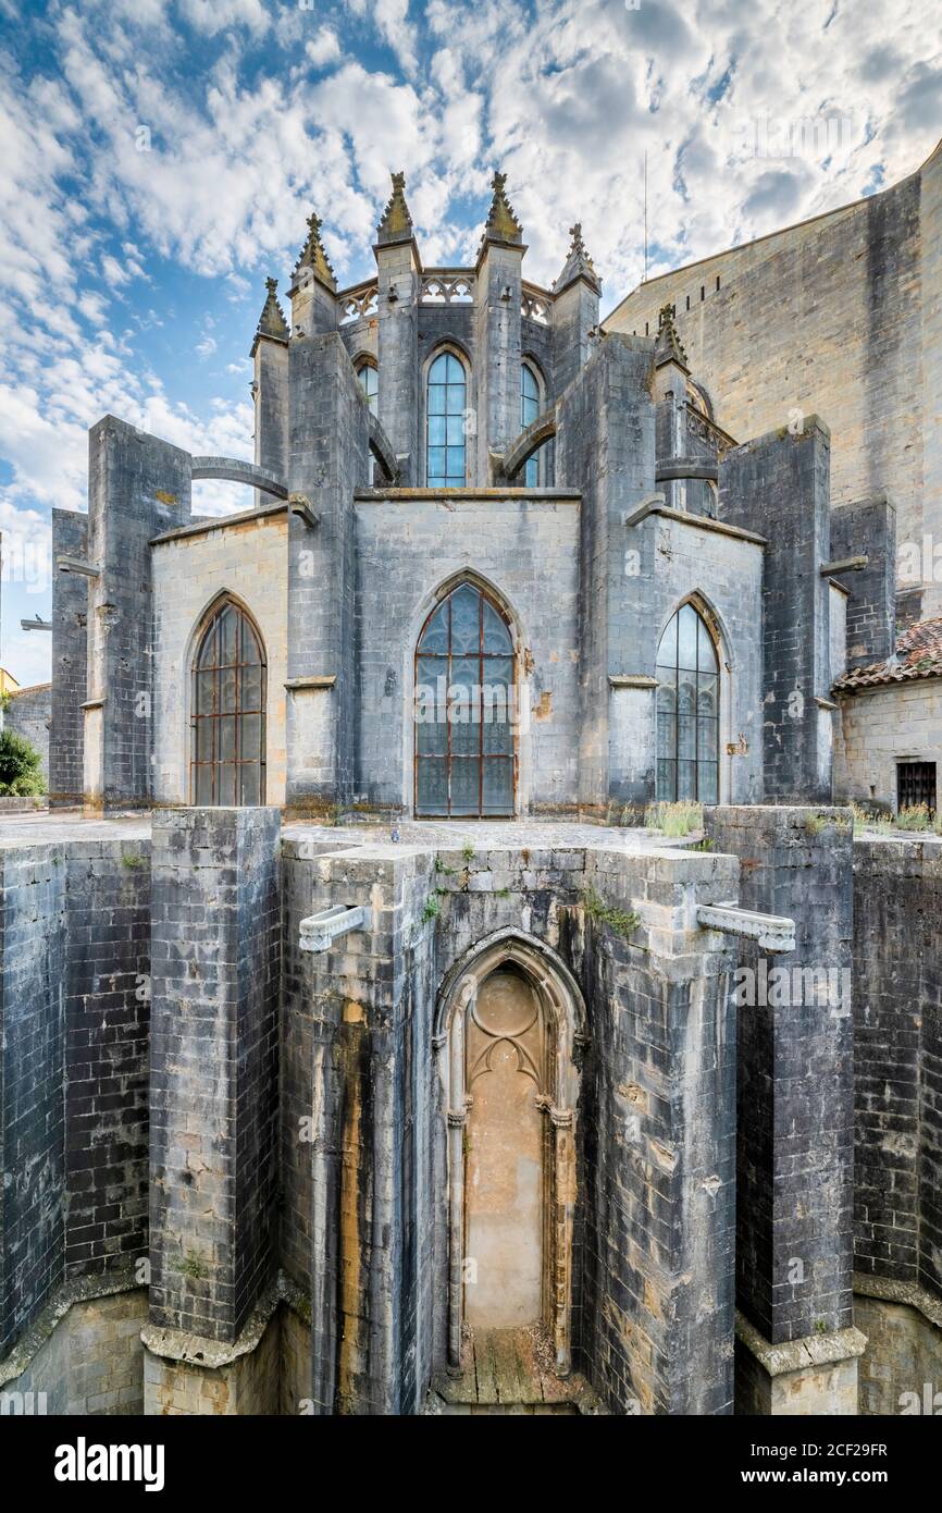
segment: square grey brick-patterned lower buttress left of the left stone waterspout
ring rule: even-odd
[[[151,1321],[227,1342],[277,1263],[278,825],[153,828]]]

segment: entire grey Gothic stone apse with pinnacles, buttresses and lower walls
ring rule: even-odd
[[[54,511],[0,1389],[892,1412],[942,1360],[942,843],[854,840],[836,688],[894,510],[832,501],[827,416],[724,430],[674,303],[603,331],[579,225],[528,281],[500,174],[473,268],[402,176],[375,257],[339,289],[311,216],[269,280],[254,461],[106,416]]]

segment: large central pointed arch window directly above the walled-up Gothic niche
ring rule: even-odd
[[[461,583],[416,648],[416,814],[511,817],[514,643],[497,605]]]

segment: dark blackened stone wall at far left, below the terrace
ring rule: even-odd
[[[5,846],[0,1357],[147,1251],[147,841]]]

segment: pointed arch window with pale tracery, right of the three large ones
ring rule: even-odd
[[[682,604],[658,648],[658,799],[718,802],[720,663],[706,620]]]

